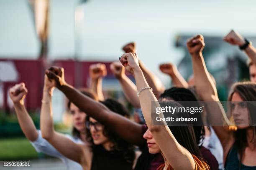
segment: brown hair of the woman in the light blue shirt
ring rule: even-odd
[[[95,92],[93,92],[92,90],[90,89],[87,89],[87,88],[80,88],[78,89],[82,94],[86,95],[87,97],[90,97],[91,99],[93,100],[99,100],[98,96],[96,95]],[[70,110],[70,105],[71,105],[71,101],[69,100],[68,101],[68,109]],[[73,126],[72,128],[72,135],[74,138],[81,138],[80,137],[80,132]]]

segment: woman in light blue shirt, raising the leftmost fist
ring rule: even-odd
[[[26,138],[30,140],[33,147],[36,149],[38,153],[44,153],[46,155],[50,155],[62,160],[62,162],[66,165],[67,170],[82,170],[81,165],[78,163],[68,159],[58,150],[56,150],[49,142],[47,142],[44,138],[42,138],[41,130],[36,130],[36,127],[33,123],[33,120],[28,115],[28,111],[24,106],[24,99],[26,97],[28,90],[25,87],[24,83],[16,84],[12,88],[10,88],[10,98],[13,101],[13,105],[18,117],[18,121],[20,124],[20,128],[25,134]],[[97,100],[97,96],[90,92],[90,90],[84,89],[82,91],[84,95],[92,98],[93,100]],[[73,103],[68,103],[69,111],[72,114],[73,121],[73,130],[72,135],[65,135],[70,140],[75,143],[84,143],[86,142],[85,136],[85,127],[81,125],[80,122],[84,122],[86,114],[81,112]]]

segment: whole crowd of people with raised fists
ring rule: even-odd
[[[248,117],[255,117],[254,110],[248,109],[244,102],[256,101],[256,49],[233,30],[223,40],[237,45],[248,55],[251,81],[235,83],[228,95],[236,126],[230,122],[209,126],[171,126],[166,122],[154,125],[152,122],[151,109],[159,107],[162,101],[184,107],[181,101],[217,101],[208,106],[207,114],[212,119],[215,112],[225,114],[223,105],[218,104],[215,79],[208,72],[202,55],[204,37],[196,35],[187,40],[194,72],[188,81],[174,64],[159,66],[161,72],[172,79],[173,87],[169,89],[139,60],[135,43],[123,47],[125,53],[110,65],[110,70],[128,102],[136,108],[133,118],[120,102],[104,98],[104,64],[90,66],[88,89],[72,87],[65,81],[64,69],[53,66],[45,72],[40,130],[24,106],[28,92],[25,84],[10,89],[20,127],[37,152],[60,158],[68,170],[256,170],[256,126],[244,125]],[[133,75],[135,84],[125,70]],[[72,136],[54,130],[55,87],[69,100]]]

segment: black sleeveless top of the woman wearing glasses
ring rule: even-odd
[[[108,151],[102,145],[93,149],[91,170],[132,170],[133,162],[128,163],[122,152]]]

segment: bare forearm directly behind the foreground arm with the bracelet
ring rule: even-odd
[[[146,78],[146,81],[148,82],[149,87],[153,89],[153,93],[156,96],[156,98],[159,98],[160,95],[164,92],[165,87],[162,84],[161,80],[159,80],[158,77],[156,77],[153,73],[151,73],[141,61],[139,61],[141,70],[143,72],[143,75]]]

